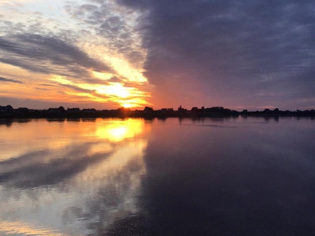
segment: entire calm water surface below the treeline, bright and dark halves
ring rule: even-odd
[[[0,122],[0,235],[314,235],[315,120]]]

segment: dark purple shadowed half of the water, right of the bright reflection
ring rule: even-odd
[[[312,235],[315,126],[296,119],[154,123],[141,214],[103,235]]]

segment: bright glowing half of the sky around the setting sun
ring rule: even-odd
[[[84,19],[77,15],[81,2],[77,5],[66,2],[45,5],[39,0],[0,2],[0,15],[5,20],[2,26],[6,27],[12,19],[10,15],[14,14],[16,17],[11,23],[16,27],[23,24],[26,31],[25,35],[19,30],[0,31],[0,37],[11,34],[11,42],[5,44],[25,47],[26,52],[20,54],[9,49],[6,56],[12,58],[10,62],[0,60],[0,96],[67,104],[67,107],[84,108],[94,104],[97,109],[143,108],[150,104],[152,86],[143,75],[146,50],[135,30],[137,12],[125,14],[128,9],[108,3],[109,27],[118,27],[117,23],[124,25],[113,40],[107,32],[100,33],[99,28],[81,23]],[[38,21],[41,23],[35,27]],[[44,28],[50,31],[48,35],[42,33]],[[65,30],[67,33],[61,37]],[[128,48],[124,50],[116,44],[121,33],[129,37]],[[75,39],[72,35],[76,35]]]

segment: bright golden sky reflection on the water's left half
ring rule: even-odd
[[[94,234],[137,213],[150,129],[141,119],[1,127],[0,234]]]

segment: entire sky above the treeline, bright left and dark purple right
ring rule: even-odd
[[[0,0],[0,105],[315,109],[315,4]]]

